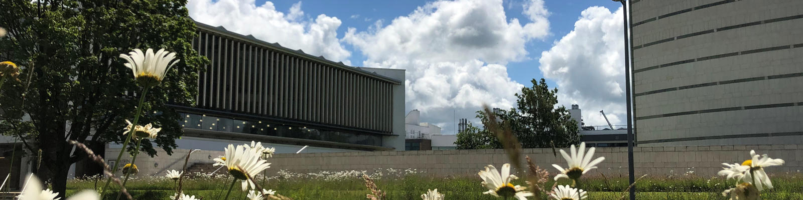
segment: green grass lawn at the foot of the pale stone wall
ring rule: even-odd
[[[589,190],[590,199],[618,199],[627,186],[626,178],[587,178],[583,188]],[[803,177],[801,174],[785,174],[773,176],[772,190],[765,190],[764,199],[803,199]],[[230,184],[226,178],[194,178],[186,180],[184,190],[186,194],[196,195],[206,200],[222,199],[224,188]],[[524,185],[524,182],[516,182]],[[552,186],[552,182],[547,183]],[[569,184],[569,182],[559,182]],[[722,190],[732,186],[732,182],[725,182],[723,178],[711,177],[679,177],[679,178],[644,178],[638,183],[638,199],[726,199],[720,194]],[[70,192],[80,189],[92,189],[93,181],[71,181]],[[365,182],[361,178],[341,176],[335,180],[321,180],[320,178],[272,178],[265,182],[264,187],[278,191],[278,194],[300,199],[365,199],[369,191],[365,189]],[[494,199],[490,195],[482,194],[479,177],[452,177],[431,178],[422,174],[407,175],[404,177],[386,176],[377,179],[377,186],[385,190],[389,199],[421,199],[419,196],[427,189],[437,188],[446,199]],[[240,193],[239,183],[234,186],[229,199],[245,199],[247,193]],[[129,181],[128,190],[135,199],[167,199],[173,194],[173,181],[165,178],[143,178]],[[115,196],[115,195],[112,195]],[[111,198],[113,199],[113,198]]]

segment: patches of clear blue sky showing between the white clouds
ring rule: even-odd
[[[261,5],[265,0],[256,1],[257,5]],[[275,4],[277,10],[290,10],[290,7],[300,1],[271,1]],[[305,14],[312,15],[308,18],[315,17],[317,14],[326,14],[328,16],[340,18],[343,25],[337,29],[337,34],[342,36],[348,27],[355,27],[358,30],[366,30],[369,26],[373,25],[377,20],[384,20],[385,22],[393,20],[398,16],[410,14],[418,6],[423,6],[426,2],[421,0],[410,1],[321,1],[321,0],[306,0],[302,1],[301,8]],[[507,18],[519,18],[526,20],[522,14],[523,7],[522,1],[505,0],[504,10]],[[550,34],[543,41],[528,42],[526,48],[530,53],[530,59],[523,62],[511,62],[507,65],[507,73],[516,82],[520,82],[525,86],[530,86],[532,78],[543,78],[544,75],[538,70],[538,58],[540,52],[549,50],[552,47],[552,42],[568,34],[574,28],[574,22],[580,17],[581,11],[589,8],[590,6],[604,6],[609,10],[616,10],[621,5],[619,2],[612,2],[607,0],[560,0],[560,1],[545,1],[545,6],[549,10],[548,20],[550,22]],[[358,16],[355,16],[358,15]],[[352,18],[355,16],[356,18]],[[359,53],[355,50],[354,46],[345,46],[352,52]],[[365,61],[365,56],[362,54],[353,54],[349,58],[352,63],[361,63]],[[355,64],[354,66],[359,66]],[[555,81],[547,79],[549,86],[555,86]]]

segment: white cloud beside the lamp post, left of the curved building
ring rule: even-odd
[[[558,102],[578,104],[586,126],[626,119],[622,8],[615,12],[593,6],[583,10],[574,30],[541,53],[540,70],[556,81]]]

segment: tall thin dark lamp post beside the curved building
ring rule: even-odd
[[[633,164],[633,113],[630,95],[630,23],[627,15],[627,2],[626,0],[613,0],[613,2],[622,3],[622,18],[624,18],[625,26],[625,96],[626,96],[626,109],[627,109],[627,173],[630,179],[630,185],[633,185],[635,180],[635,170]],[[636,199],[636,186],[630,188],[630,200]]]

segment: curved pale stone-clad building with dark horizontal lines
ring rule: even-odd
[[[803,1],[630,2],[638,146],[803,143]]]

